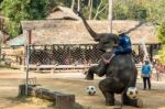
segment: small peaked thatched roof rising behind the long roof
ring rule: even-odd
[[[66,7],[56,7],[52,10],[52,12],[46,18],[48,20],[79,20],[79,17],[76,15],[70,8]]]

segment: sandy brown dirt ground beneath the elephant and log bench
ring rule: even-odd
[[[30,73],[30,77],[36,77],[37,84],[42,87],[74,94],[76,102],[86,109],[113,109],[105,106],[105,98],[98,89],[100,77],[95,80],[85,80],[81,72],[65,73]],[[19,85],[23,83],[25,72],[19,69],[0,68],[0,109],[50,109],[47,103],[23,102],[16,100]],[[88,96],[86,88],[88,85],[97,87],[95,96]],[[152,90],[142,90],[142,79],[138,79],[139,97],[144,102],[143,109],[165,109],[165,83],[152,80]],[[120,102],[120,95],[116,95],[116,100]],[[138,109],[135,107],[123,106],[122,109]]]

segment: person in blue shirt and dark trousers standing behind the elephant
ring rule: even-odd
[[[145,61],[144,65],[142,65],[142,77],[143,77],[144,89],[146,89],[146,85],[148,86],[148,89],[151,89],[151,74],[152,74],[152,67],[150,65],[150,62]]]

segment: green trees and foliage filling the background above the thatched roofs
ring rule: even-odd
[[[70,7],[72,1],[73,0],[0,0],[1,13],[9,18],[9,21],[6,22],[6,29],[13,36],[20,34],[20,22],[22,20],[44,19],[55,6]],[[84,3],[82,13],[88,18],[88,0],[80,1]],[[77,0],[75,0],[75,2],[77,3]],[[94,0],[92,6],[91,19],[95,17],[97,20],[108,19],[108,0]],[[98,7],[100,7],[99,10]],[[144,20],[157,24],[164,22],[164,18],[165,0],[113,0],[113,20]],[[160,37],[160,40],[162,40],[162,37]]]

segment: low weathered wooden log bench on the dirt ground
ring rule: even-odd
[[[25,96],[25,85],[19,86],[19,97]],[[76,98],[73,94],[63,94],[52,91],[46,88],[36,87],[35,85],[28,85],[28,96],[47,99],[54,103],[54,109],[75,109]]]

